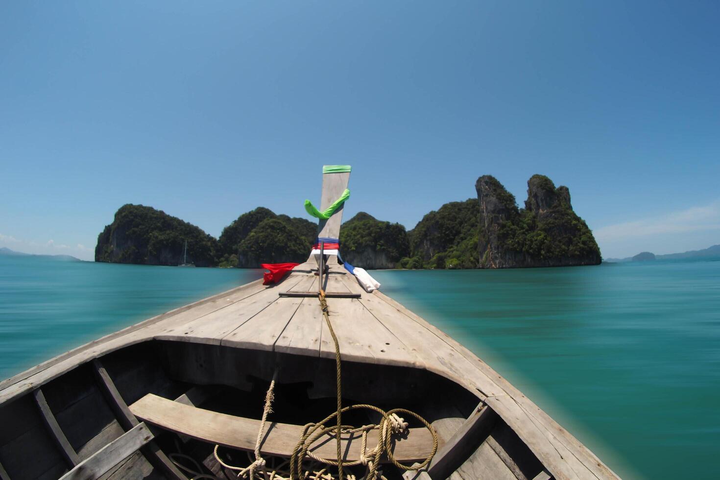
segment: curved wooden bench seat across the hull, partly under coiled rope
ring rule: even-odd
[[[212,412],[153,394],[147,394],[130,405],[130,411],[145,422],[165,430],[239,450],[254,450],[260,428],[260,420]],[[302,426],[267,422],[265,430],[260,448],[262,453],[286,458],[292,456],[292,450],[300,440]],[[377,437],[377,430],[368,433],[368,450],[377,444]],[[342,441],[343,461],[359,460],[361,435],[348,435]],[[430,455],[432,448],[433,439],[426,428],[411,428],[407,438],[395,440],[393,453],[396,460],[403,463],[423,461]],[[311,451],[329,460],[337,458],[335,439],[329,435],[319,438]]]

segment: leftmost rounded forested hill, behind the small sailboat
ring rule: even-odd
[[[115,213],[113,222],[98,235],[96,262],[214,266],[217,240],[199,227],[161,210],[127,204]]]

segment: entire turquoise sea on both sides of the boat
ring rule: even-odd
[[[718,478],[720,259],[372,274],[624,478]],[[260,276],[0,256],[0,378]]]

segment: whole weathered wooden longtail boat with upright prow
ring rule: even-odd
[[[323,209],[348,185],[349,168],[336,170],[323,174]],[[318,237],[337,238],[341,219],[342,207]],[[377,407],[343,411],[343,425],[370,426],[344,427],[339,443],[338,376],[343,407]],[[279,284],[211,296],[0,384],[0,480],[325,479],[338,468],[313,457],[337,461],[338,448],[346,479],[617,478],[467,348],[324,251]]]

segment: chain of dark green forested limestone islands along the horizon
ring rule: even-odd
[[[477,198],[453,201],[407,231],[359,212],[343,223],[343,259],[363,268],[524,268],[597,265],[600,249],[575,214],[570,190],[542,175],[528,180],[528,199],[515,197],[492,176],[475,184]],[[217,239],[161,210],[126,204],[98,236],[95,261],[178,265],[187,242],[195,266],[259,268],[303,262],[317,225],[258,207],[241,214]]]

